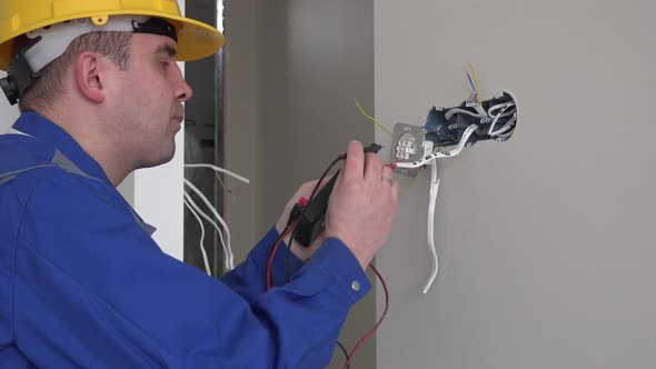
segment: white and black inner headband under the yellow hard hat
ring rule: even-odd
[[[78,37],[90,32],[135,32],[167,36],[177,41],[176,28],[160,18],[147,16],[116,16],[105,22],[91,18],[74,19],[26,33],[27,47],[14,52],[8,76],[0,80],[0,88],[9,103],[16,104],[23,92],[39,78],[41,70],[61,57]]]

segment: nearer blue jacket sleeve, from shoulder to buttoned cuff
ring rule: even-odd
[[[26,205],[13,322],[39,367],[322,368],[370,289],[350,251],[329,239],[289,283],[238,293],[161,252],[99,186],[47,178]],[[255,269],[240,285],[261,283]]]

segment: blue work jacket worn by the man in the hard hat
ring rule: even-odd
[[[272,228],[213,279],[163,253],[102,168],[23,113],[0,136],[0,368],[322,368],[370,285],[328,239],[266,290]],[[182,186],[182,183],[180,183]],[[180,206],[182,206],[180,203]],[[285,252],[274,280],[286,280]]]

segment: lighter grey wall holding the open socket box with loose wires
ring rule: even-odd
[[[377,259],[391,290],[378,368],[655,368],[656,3],[375,9],[381,120],[421,124],[459,103],[469,61],[484,92],[520,103],[509,142],[441,162],[441,269],[426,296],[428,171],[401,199]]]

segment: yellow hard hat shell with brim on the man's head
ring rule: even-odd
[[[181,17],[177,0],[1,0],[0,70],[7,70],[13,40],[27,32],[73,19],[105,24],[111,16],[149,16],[169,21],[178,33],[179,61],[202,59],[223,46],[216,28]]]

